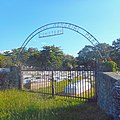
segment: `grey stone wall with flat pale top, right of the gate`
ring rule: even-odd
[[[120,75],[113,72],[98,72],[96,76],[98,105],[108,115],[115,116],[114,88]],[[119,104],[120,106],[120,104]]]

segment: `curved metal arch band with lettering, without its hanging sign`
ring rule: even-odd
[[[55,23],[49,23],[46,25],[43,25],[39,28],[37,28],[35,31],[33,31],[23,42],[22,46],[21,46],[21,50],[20,53],[24,50],[24,48],[26,47],[26,45],[32,40],[33,37],[35,37],[36,35],[42,33],[45,30],[48,29],[52,29],[52,28],[66,28],[66,29],[70,29],[73,30],[77,33],[79,33],[80,35],[82,35],[83,37],[85,37],[94,47],[98,44],[100,44],[98,42],[98,40],[92,35],[90,34],[87,30],[85,30],[82,27],[79,27],[75,24],[72,23],[67,23],[67,22],[55,22]],[[49,37],[48,36],[43,36],[43,37]],[[101,58],[103,58],[103,56],[101,55],[100,51],[98,49],[96,49],[100,55]]]

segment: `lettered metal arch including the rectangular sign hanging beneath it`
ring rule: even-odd
[[[51,29],[54,31],[51,31]],[[24,50],[24,48],[27,46],[27,44],[36,35],[38,35],[39,38],[61,35],[64,33],[64,31],[63,31],[64,29],[73,30],[73,31],[79,33],[84,38],[86,38],[94,47],[96,47],[96,45],[100,44],[98,42],[98,40],[90,32],[88,32],[87,30],[85,30],[84,28],[82,28],[78,25],[75,25],[72,23],[67,23],[67,22],[55,22],[55,23],[43,25],[43,26],[37,28],[35,31],[33,31],[23,42],[20,53]],[[96,48],[96,50],[98,51],[100,57],[103,58],[102,54],[100,53],[98,48]]]

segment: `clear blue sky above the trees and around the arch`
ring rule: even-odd
[[[94,35],[100,43],[112,45],[120,38],[120,0],[0,0],[0,50],[19,48],[26,37],[51,22],[70,22]],[[77,55],[91,43],[79,34],[64,30],[61,36],[38,38],[27,47],[61,47]]]

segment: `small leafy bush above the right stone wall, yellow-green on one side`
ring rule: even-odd
[[[99,64],[98,69],[102,72],[116,72],[118,67],[114,61],[104,61]]]

